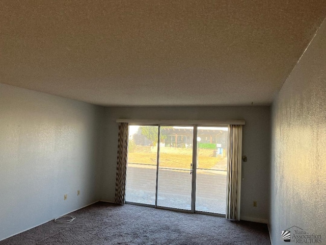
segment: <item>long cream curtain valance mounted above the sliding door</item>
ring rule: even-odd
[[[200,126],[246,125],[245,120],[117,119],[116,122],[128,122],[129,124],[139,124],[139,125],[200,125]]]

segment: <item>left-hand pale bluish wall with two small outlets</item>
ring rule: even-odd
[[[0,84],[0,240],[99,199],[102,114]]]

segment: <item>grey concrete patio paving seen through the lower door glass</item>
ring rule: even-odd
[[[224,214],[226,172],[212,170],[197,171],[196,210]],[[138,167],[137,164],[128,166],[126,201],[154,205],[155,186],[156,166],[146,168]],[[157,193],[158,206],[190,210],[192,196],[190,171],[159,169]]]

